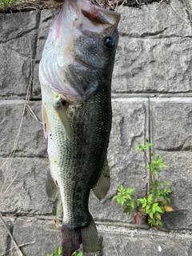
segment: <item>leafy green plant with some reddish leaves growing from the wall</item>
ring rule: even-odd
[[[166,211],[172,211],[170,206],[170,198],[168,197],[172,190],[168,187],[170,183],[161,182],[158,179],[158,174],[161,173],[162,168],[169,168],[162,162],[162,157],[158,155],[154,158],[154,153],[151,150],[153,144],[148,143],[142,145],[138,142],[136,150],[142,150],[145,155],[147,166],[146,170],[149,170],[149,190],[143,198],[134,197],[134,188],[125,189],[122,185],[118,187],[118,194],[114,196],[112,200],[116,200],[121,206],[126,206],[124,212],[131,214],[134,211],[134,222],[136,224],[142,223],[142,217],[146,216],[147,222],[150,226],[161,227],[162,226],[162,214]],[[150,159],[147,157],[146,151],[150,150]]]

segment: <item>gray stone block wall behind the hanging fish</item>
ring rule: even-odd
[[[192,255],[192,2],[153,2],[120,12],[108,150],[111,187],[101,202],[90,195],[102,238],[98,255]],[[45,192],[47,142],[38,82],[42,48],[57,14],[54,9],[0,14],[0,210],[8,214],[5,220],[26,256],[53,253],[61,238],[53,221],[58,201],[50,202]],[[174,212],[165,214],[162,230],[135,226],[111,202],[121,183],[143,196],[149,177],[135,147],[145,138],[170,166],[161,176],[171,183]],[[12,247],[0,223],[0,254]]]

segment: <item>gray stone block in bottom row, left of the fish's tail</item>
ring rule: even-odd
[[[37,220],[34,218],[31,222],[22,222],[17,219],[13,222],[14,230],[12,234],[16,239],[18,245],[26,244],[21,246],[20,250],[27,256],[46,256],[46,254],[53,254],[56,251],[57,246],[61,243],[61,232],[56,228],[54,222],[50,220]],[[13,219],[12,219],[13,220]],[[6,232],[4,232],[6,235]],[[14,244],[11,242],[6,248],[9,250],[13,248]],[[4,250],[0,250],[0,253]],[[15,250],[10,250],[7,256],[17,256]]]

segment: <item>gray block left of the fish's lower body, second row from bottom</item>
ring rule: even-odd
[[[46,196],[47,159],[10,158],[5,161],[6,158],[0,158],[2,213],[55,214],[56,202],[51,202]]]

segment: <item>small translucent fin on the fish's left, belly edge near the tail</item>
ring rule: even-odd
[[[54,202],[58,197],[58,192],[58,186],[55,184],[53,178],[51,177],[50,170],[48,170],[46,176],[46,194],[48,198]]]

